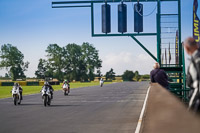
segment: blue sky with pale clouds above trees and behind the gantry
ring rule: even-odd
[[[59,0],[60,1],[60,0]],[[199,1],[199,0],[198,0]],[[51,8],[52,0],[0,0],[0,45],[10,43],[29,61],[27,76],[35,76],[38,61],[46,58],[49,44],[65,46],[68,43],[93,44],[103,60],[102,72],[113,68],[116,74],[125,70],[138,70],[147,74],[154,60],[130,37],[91,37],[90,8]],[[117,33],[117,5],[111,5],[112,33]],[[133,8],[128,7],[128,32],[133,32]],[[135,3],[133,3],[135,4]],[[156,3],[143,3],[144,15],[149,14]],[[101,7],[95,5],[95,32],[101,33]],[[181,0],[182,40],[192,35],[193,0]],[[163,13],[176,12],[174,3],[162,3]],[[198,10],[199,13],[199,10]],[[144,32],[156,32],[156,10],[144,17]],[[137,37],[156,56],[156,37]],[[187,57],[186,57],[187,58]],[[4,75],[5,70],[0,70]]]

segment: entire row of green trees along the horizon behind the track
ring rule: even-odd
[[[75,43],[60,47],[58,44],[49,44],[46,52],[46,59],[39,59],[35,75],[38,79],[56,78],[59,81],[68,79],[70,81],[93,81],[95,77],[102,77],[102,60],[99,58],[99,51],[88,42],[82,45]],[[4,44],[0,50],[0,69],[5,68],[8,73],[5,77],[25,79],[29,62],[24,62],[24,55],[12,44]],[[106,80],[114,80],[115,72],[111,68],[104,75]],[[138,81],[141,78],[138,71],[126,70],[122,75],[125,81]]]

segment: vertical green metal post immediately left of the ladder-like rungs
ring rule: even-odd
[[[160,39],[160,0],[157,1],[157,62],[161,64],[161,39]]]

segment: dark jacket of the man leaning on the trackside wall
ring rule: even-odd
[[[168,76],[162,69],[154,69],[150,73],[151,82],[159,83],[164,88],[169,89]]]

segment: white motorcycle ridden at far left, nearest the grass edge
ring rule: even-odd
[[[20,90],[19,87],[14,86],[12,88],[12,97],[14,101],[14,105],[21,104],[21,95],[20,95]]]

